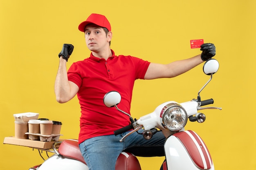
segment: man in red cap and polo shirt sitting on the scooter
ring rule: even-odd
[[[113,131],[127,126],[129,117],[114,107],[106,107],[103,97],[109,91],[118,91],[122,96],[119,108],[130,113],[136,79],[178,76],[213,57],[215,46],[203,44],[202,54],[164,65],[132,56],[116,56],[110,49],[111,26],[103,15],[91,14],[79,25],[79,31],[85,33],[86,45],[92,53],[89,58],[73,63],[67,72],[66,62],[74,47],[64,44],[59,54],[54,89],[60,103],[77,94],[81,105],[79,147],[89,169],[115,170],[115,162],[122,150],[138,156],[164,156],[165,137],[161,132],[150,140],[133,133],[120,143],[119,139],[127,132],[115,136]]]

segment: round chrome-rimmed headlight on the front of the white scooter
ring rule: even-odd
[[[170,131],[179,131],[188,120],[186,110],[177,103],[165,105],[161,111],[160,119],[162,125]]]

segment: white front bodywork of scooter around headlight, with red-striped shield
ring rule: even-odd
[[[209,150],[198,134],[194,131],[184,131],[184,129],[176,133],[170,133],[162,126],[159,113],[169,103],[177,102],[164,102],[155,111],[137,120],[138,124],[144,126],[144,130],[157,127],[166,136],[164,150],[168,170],[214,170]],[[180,105],[186,109],[188,116],[198,113],[196,109],[198,104],[195,101],[180,103]]]

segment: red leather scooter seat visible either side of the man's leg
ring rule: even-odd
[[[58,148],[58,152],[63,157],[76,159],[85,163],[77,140],[63,140]],[[115,170],[141,170],[141,167],[137,157],[131,153],[122,152],[117,158]]]

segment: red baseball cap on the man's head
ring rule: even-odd
[[[79,31],[82,31],[84,32],[85,30],[85,26],[87,24],[96,24],[98,26],[101,26],[101,27],[105,27],[108,29],[108,31],[111,31],[111,26],[110,26],[110,23],[108,22],[108,19],[104,16],[104,15],[100,15],[100,14],[97,14],[97,13],[92,13],[86,21],[84,22],[81,22],[81,24],[79,24],[78,26],[78,29]]]

